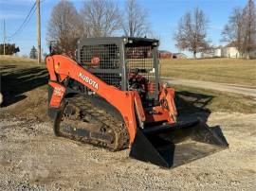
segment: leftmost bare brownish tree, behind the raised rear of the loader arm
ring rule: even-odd
[[[51,11],[47,40],[56,41],[59,52],[74,56],[81,35],[82,21],[77,10],[70,1],[60,1]]]

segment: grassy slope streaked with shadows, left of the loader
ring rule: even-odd
[[[4,106],[25,99],[25,94],[36,88],[44,88],[48,73],[46,63],[11,56],[0,56],[1,93]]]

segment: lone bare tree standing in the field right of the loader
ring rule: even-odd
[[[196,53],[204,52],[210,48],[206,41],[208,19],[201,9],[194,9],[187,12],[179,21],[177,30],[174,34],[177,48],[189,50],[196,59]]]

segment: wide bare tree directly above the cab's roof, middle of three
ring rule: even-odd
[[[84,1],[81,16],[87,37],[112,36],[121,27],[119,7],[111,0]]]

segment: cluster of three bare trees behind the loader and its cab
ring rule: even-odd
[[[79,11],[69,0],[61,0],[51,11],[47,41],[55,41],[55,52],[73,56],[81,38],[109,37],[122,31],[125,36],[151,34],[148,14],[136,0],[126,0],[124,9],[114,0],[84,1]]]

